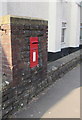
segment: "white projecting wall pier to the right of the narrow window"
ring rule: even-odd
[[[75,2],[69,3],[68,41],[69,41],[69,47],[79,47],[79,44],[80,44],[80,7]]]

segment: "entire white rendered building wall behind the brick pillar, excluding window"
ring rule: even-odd
[[[49,52],[58,52],[61,51],[61,48],[66,47],[78,47],[80,43],[80,7],[75,2],[64,3],[65,0],[50,1],[2,2],[2,8],[0,4],[0,8],[2,9],[0,15],[11,14],[48,20]],[[67,29],[65,32],[65,42],[61,43],[63,21],[67,22]]]

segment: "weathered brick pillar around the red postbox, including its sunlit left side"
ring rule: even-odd
[[[10,17],[10,24],[2,25],[2,113],[8,117],[26,105],[47,84],[47,21]],[[30,37],[38,37],[38,65],[30,68]]]

